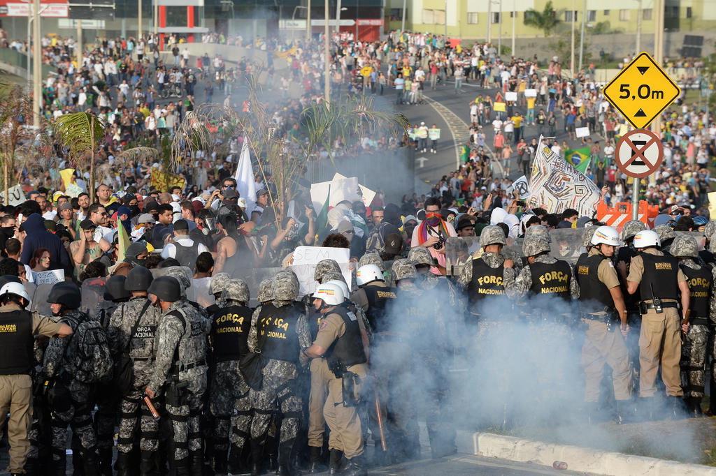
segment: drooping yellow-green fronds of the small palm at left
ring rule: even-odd
[[[87,112],[59,116],[52,122],[57,140],[67,147],[70,157],[82,160],[87,152],[94,152],[105,136],[105,125],[99,117]]]

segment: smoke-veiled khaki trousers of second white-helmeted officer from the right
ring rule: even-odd
[[[587,326],[581,354],[584,401],[599,401],[599,384],[605,363],[611,367],[614,398],[629,400],[632,369],[629,367],[627,344],[619,331],[619,322],[612,322],[611,329],[607,328],[606,322],[591,319],[582,319],[582,322]]]

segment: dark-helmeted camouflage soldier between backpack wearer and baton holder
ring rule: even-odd
[[[149,269],[137,266],[127,274],[125,289],[128,302],[112,312],[108,333],[115,360],[113,383],[120,402],[120,431],[117,437],[117,476],[135,474],[130,465],[137,425],[139,427],[139,474],[158,472],[156,455],[159,449],[159,422],[154,420],[147,405],[142,403],[144,387],[153,372],[155,334],[161,312],[152,306],[147,289],[153,282]],[[154,402],[155,407],[158,403]],[[138,420],[138,422],[137,422]]]

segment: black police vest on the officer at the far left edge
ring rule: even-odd
[[[32,312],[0,312],[0,375],[29,374],[33,344]]]

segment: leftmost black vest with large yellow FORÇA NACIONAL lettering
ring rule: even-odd
[[[241,360],[241,357],[248,354],[251,309],[246,306],[225,307],[216,312],[211,321],[211,339],[216,362]]]

